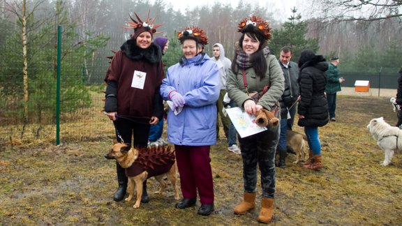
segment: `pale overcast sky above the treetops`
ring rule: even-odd
[[[185,13],[186,8],[195,8],[195,6],[213,6],[217,0],[164,0],[165,3],[178,8],[182,13]],[[220,0],[221,3],[230,3],[233,7],[237,6],[238,0]],[[297,6],[301,0],[244,0],[244,2],[258,3],[260,6],[266,7],[270,12],[274,13],[276,20],[284,22],[292,14],[290,9],[295,7],[300,11],[300,6]]]

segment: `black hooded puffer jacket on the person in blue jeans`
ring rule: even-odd
[[[297,113],[304,115],[304,119],[299,119],[299,126],[325,126],[328,123],[328,103],[325,97],[325,84],[327,76],[325,71],[328,63],[320,55],[307,55],[301,53],[300,68],[300,95],[301,100]]]

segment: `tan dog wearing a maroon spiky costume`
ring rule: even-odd
[[[168,176],[174,188],[174,198],[179,200],[179,190],[176,186],[177,165],[174,151],[170,150],[170,146],[135,149],[130,144],[116,143],[107,153],[107,157],[115,158],[121,167],[126,168],[128,197],[125,200],[131,201],[136,190],[137,199],[134,208],[140,207],[142,182],[152,176],[161,183],[161,189],[158,192],[161,194],[166,188],[163,176]]]

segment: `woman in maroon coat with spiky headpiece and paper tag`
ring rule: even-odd
[[[137,21],[128,22],[134,29],[130,40],[121,45],[114,54],[105,76],[107,82],[105,112],[114,123],[117,140],[133,146],[146,147],[149,128],[163,116],[163,100],[159,94],[162,84],[163,64],[159,48],[152,43],[156,28],[161,25]],[[126,195],[127,177],[125,169],[117,166],[119,188],[114,193],[114,201],[121,201]],[[149,202],[147,181],[143,183],[141,202]]]

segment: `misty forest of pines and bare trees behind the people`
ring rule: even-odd
[[[234,7],[215,1],[212,6],[188,8],[182,13],[163,0],[0,0],[0,98],[4,100],[0,101],[0,121],[2,125],[22,125],[7,130],[10,137],[24,137],[27,125],[34,125],[29,133],[40,137],[43,125],[54,123],[58,103],[62,122],[85,120],[83,112],[87,114],[94,106],[102,105],[96,103],[101,98],[94,96],[104,90],[103,77],[110,61],[107,57],[133,32],[123,28],[133,12],[141,18],[150,12],[151,17],[156,16],[156,24],[163,24],[158,29],[163,33],[158,36],[170,38],[170,48],[163,57],[167,67],[181,57],[177,31],[189,25],[207,32],[208,54],[214,43],[221,43],[231,59],[234,42],[240,36],[237,24],[254,14],[271,23],[273,38],[268,45],[276,57],[281,47],[290,45],[293,61],[297,61],[301,50],[308,48],[327,59],[339,56],[341,73],[358,72],[369,79],[382,71],[388,73],[389,81],[396,81],[402,66],[402,16],[398,14],[402,1],[380,1],[397,4],[375,6],[390,13],[386,18],[375,17],[383,13],[374,11],[366,20],[351,20],[340,16],[345,13],[340,6],[332,5],[339,1],[297,1],[303,4],[289,8],[292,15],[281,22],[267,8],[250,1],[238,1]],[[309,16],[303,17],[300,12]],[[60,46],[58,27],[62,28]],[[57,47],[61,48],[60,65]],[[62,81],[59,102],[54,98],[58,66]],[[354,80],[350,77],[348,81]]]

